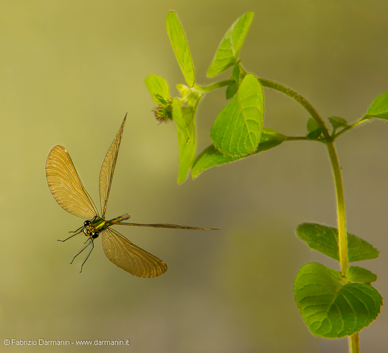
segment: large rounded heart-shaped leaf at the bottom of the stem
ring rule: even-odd
[[[303,265],[294,280],[294,297],[314,336],[341,338],[370,325],[383,305],[380,293],[362,283],[340,282],[340,273],[320,263]]]

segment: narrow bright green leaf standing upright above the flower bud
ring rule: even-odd
[[[183,32],[175,11],[169,11],[167,13],[166,26],[171,46],[173,47],[175,57],[178,60],[183,76],[185,77],[187,84],[190,87],[193,87],[195,82],[194,64],[185,33]]]

